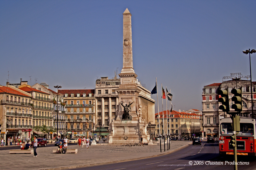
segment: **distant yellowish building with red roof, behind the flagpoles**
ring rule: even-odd
[[[160,123],[159,123],[160,122]],[[156,136],[159,135],[160,129],[163,134],[163,129],[161,127],[161,122],[163,122],[163,112],[155,114],[155,124],[156,124]],[[159,128],[160,124],[160,128]],[[200,115],[195,113],[187,113],[187,112],[177,112],[175,110],[166,110],[164,111],[164,135],[171,135],[171,137],[179,139],[183,138],[191,138],[193,134],[196,137],[200,137]],[[167,128],[168,127],[168,131]],[[161,134],[160,134],[161,135]]]

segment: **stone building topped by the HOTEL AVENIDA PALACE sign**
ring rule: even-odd
[[[253,98],[251,98],[250,80],[228,80],[223,81],[222,83],[212,83],[210,85],[205,85],[202,93],[203,137],[218,137],[220,118],[229,116],[226,112],[224,113],[222,110],[219,109],[219,106],[222,104],[218,102],[218,99],[221,97],[218,94],[218,91],[222,89],[228,90],[229,109],[230,112],[234,112],[234,109],[231,108],[231,105],[234,104],[231,100],[231,98],[234,96],[234,94],[231,93],[231,90],[233,88],[241,88],[243,111],[240,113],[240,116],[252,118],[252,107],[254,110],[254,114],[256,111],[255,85],[256,82],[252,82]],[[252,99],[254,100],[253,104]]]

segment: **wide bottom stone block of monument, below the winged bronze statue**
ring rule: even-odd
[[[112,132],[108,135],[109,144],[140,144],[148,143],[150,136],[147,133],[147,123],[139,123],[138,120],[115,121],[110,124]]]

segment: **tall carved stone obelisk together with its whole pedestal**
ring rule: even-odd
[[[132,14],[126,8],[123,13],[123,68],[119,74],[121,85],[116,89],[118,93],[118,113],[113,120],[108,135],[108,143],[124,144],[139,143],[140,137],[148,138],[145,122],[139,122],[138,95],[141,91],[136,85],[137,75],[132,63]],[[126,111],[124,107],[126,106]],[[124,113],[129,110],[129,118],[124,119]]]

